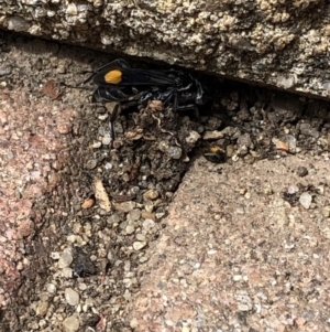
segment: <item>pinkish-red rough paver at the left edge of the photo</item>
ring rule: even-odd
[[[68,132],[74,114],[33,95],[0,92],[0,308],[11,302],[33,265],[26,247],[43,224],[33,205],[58,185],[59,176],[52,170],[65,162],[62,136]],[[42,259],[43,249],[37,251],[41,257],[33,260]]]

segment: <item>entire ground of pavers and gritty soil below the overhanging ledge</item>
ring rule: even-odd
[[[195,73],[199,114],[122,110],[113,137],[66,85],[116,56],[0,55],[1,331],[330,331],[328,103]]]

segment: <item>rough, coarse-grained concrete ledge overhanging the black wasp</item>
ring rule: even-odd
[[[2,0],[0,26],[329,98],[326,0]]]

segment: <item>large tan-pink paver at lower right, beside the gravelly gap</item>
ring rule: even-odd
[[[297,174],[306,167],[309,174]],[[309,210],[284,200],[315,186]],[[135,331],[330,331],[329,160],[198,159],[141,267]],[[319,205],[320,204],[320,205]],[[327,215],[327,217],[324,216]]]

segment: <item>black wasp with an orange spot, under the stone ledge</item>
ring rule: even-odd
[[[131,68],[124,60],[118,58],[97,69],[84,83],[92,78],[98,85],[94,103],[118,101],[130,107],[155,99],[173,105],[175,110],[195,109],[205,104],[201,84],[182,71]]]

